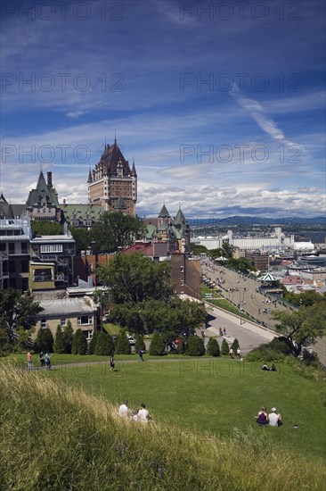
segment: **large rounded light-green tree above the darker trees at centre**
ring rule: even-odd
[[[98,268],[98,278],[110,287],[114,304],[167,300],[173,294],[167,262],[153,262],[141,253],[116,254]]]

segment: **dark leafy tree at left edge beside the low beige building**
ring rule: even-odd
[[[14,343],[19,329],[32,329],[43,310],[29,294],[22,295],[15,288],[0,290],[0,329],[4,329],[7,342]]]

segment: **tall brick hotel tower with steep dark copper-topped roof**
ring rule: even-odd
[[[100,204],[106,212],[124,212],[135,216],[137,174],[118,147],[106,145],[93,171],[88,174],[88,203]]]

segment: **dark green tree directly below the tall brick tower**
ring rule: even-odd
[[[99,253],[114,253],[120,247],[132,245],[134,239],[141,238],[145,226],[138,219],[123,212],[104,212],[90,231]]]

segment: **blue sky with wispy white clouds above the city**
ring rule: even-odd
[[[324,2],[6,1],[1,20],[12,203],[41,169],[86,203],[116,131],[140,216],[324,213]]]

